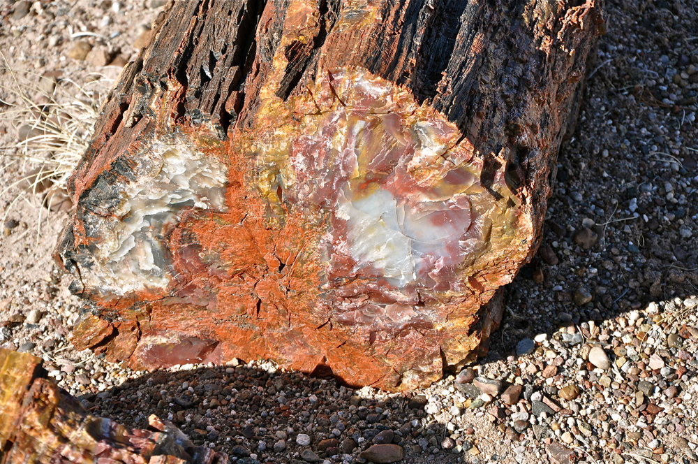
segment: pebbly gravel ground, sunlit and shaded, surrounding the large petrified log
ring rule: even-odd
[[[64,89],[91,73],[113,78],[161,3],[0,1],[0,50],[30,82],[56,71]],[[93,414],[141,427],[157,414],[241,464],[364,463],[374,443],[395,444],[377,452],[402,451],[408,463],[698,462],[692,8],[609,2],[540,252],[507,289],[487,358],[455,378],[385,394],[268,361],[147,373],[77,352],[68,335],[80,303],[50,257],[66,213],[42,219],[37,235],[33,195],[3,222],[0,346],[42,356]],[[0,82],[12,103],[12,75]],[[1,145],[15,143],[19,126],[0,120]],[[0,165],[0,184],[31,167]],[[1,195],[0,210],[15,195]]]

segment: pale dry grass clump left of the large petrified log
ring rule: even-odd
[[[0,147],[5,159],[0,173],[10,168],[22,173],[8,182],[0,196],[10,191],[13,200],[5,208],[2,220],[23,198],[39,196],[38,224],[42,210],[66,211],[72,208],[66,195],[66,184],[73,169],[87,150],[99,108],[111,80],[99,75],[85,85],[54,75],[21,75],[7,66],[4,72],[9,84],[0,85],[0,118],[10,122],[17,138]],[[5,177],[8,177],[7,175]]]

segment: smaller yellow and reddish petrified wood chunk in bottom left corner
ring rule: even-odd
[[[87,414],[45,377],[40,358],[0,348],[0,463],[225,464],[168,421],[127,428]]]

